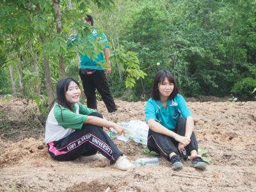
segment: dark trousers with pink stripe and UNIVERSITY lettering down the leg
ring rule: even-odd
[[[102,118],[98,112],[90,115]],[[84,124],[82,129],[47,145],[51,157],[58,161],[72,161],[80,156],[91,156],[99,151],[110,160],[110,164],[113,164],[123,154],[102,127],[91,124]]]

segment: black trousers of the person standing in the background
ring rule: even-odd
[[[84,94],[87,98],[87,107],[97,109],[95,90],[100,93],[108,112],[117,110],[114,99],[110,93],[108,81],[104,70],[79,69],[79,76],[83,83]]]

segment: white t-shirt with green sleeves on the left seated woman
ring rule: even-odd
[[[54,103],[45,124],[45,143],[61,140],[75,129],[82,129],[87,116],[93,112],[93,109],[86,108],[81,102],[74,104],[73,111]]]

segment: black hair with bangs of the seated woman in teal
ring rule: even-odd
[[[174,84],[173,91],[172,91],[171,95],[169,96],[169,98],[172,100],[179,93],[177,83],[175,81],[173,74],[168,70],[159,70],[159,72],[156,73],[156,76],[154,78],[154,84],[153,84],[153,89],[152,89],[152,93],[151,93],[152,99],[160,100],[158,86],[159,86],[159,83],[161,84],[164,82],[165,78],[167,78],[167,80],[170,83]]]

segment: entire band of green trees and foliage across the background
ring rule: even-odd
[[[79,79],[76,56],[84,47],[68,48],[67,40],[72,30],[83,35],[81,19],[90,13],[95,28],[104,31],[111,44],[109,84],[114,97],[148,99],[157,70],[168,69],[186,97],[232,93],[239,100],[255,100],[255,0],[76,0],[71,1],[72,10],[67,2],[60,1],[61,35],[56,33],[52,1],[0,3],[0,94],[12,92],[8,74],[12,65],[16,83],[18,74],[22,76],[20,95],[35,98],[36,83],[40,94],[47,95],[44,55],[53,90],[61,78],[60,54],[66,76]],[[38,3],[44,10],[40,17],[35,12]],[[97,44],[92,46],[97,49]]]

